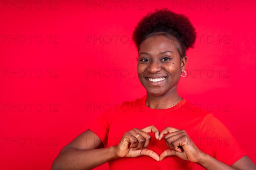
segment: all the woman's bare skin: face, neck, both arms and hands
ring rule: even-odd
[[[147,90],[145,104],[149,108],[170,108],[173,106],[170,103],[182,100],[177,94],[177,83],[181,71],[185,69],[186,57],[180,58],[179,48],[178,42],[164,36],[149,37],[140,45],[138,74],[140,82]],[[159,79],[155,81],[156,78]],[[151,132],[155,134],[156,139],[165,140],[169,147],[169,150],[163,151],[160,156],[147,149],[151,140],[148,133]],[[87,143],[89,138],[92,141]],[[118,145],[107,148],[99,141],[99,136],[91,130],[86,130],[61,150],[52,164],[52,169],[92,169],[122,157],[149,156],[155,161],[161,161],[167,156],[178,156],[209,170],[255,170],[255,165],[247,156],[236,161],[231,167],[218,161],[199,150],[185,130],[174,127],[166,127],[161,132],[154,125],[143,129],[134,128],[124,133]]]

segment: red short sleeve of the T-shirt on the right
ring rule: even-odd
[[[198,137],[201,142],[197,145],[203,152],[229,166],[246,155],[227,127],[212,113],[202,120]]]

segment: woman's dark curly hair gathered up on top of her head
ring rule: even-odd
[[[188,48],[193,48],[196,39],[195,28],[189,18],[169,11],[168,8],[155,9],[154,12],[149,12],[143,17],[133,31],[132,40],[139,51],[140,44],[146,38],[156,35],[163,35],[170,39],[172,38],[168,35],[175,37],[180,43],[181,58],[186,56]]]

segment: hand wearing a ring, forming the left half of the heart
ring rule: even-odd
[[[156,139],[159,137],[159,130],[154,125],[145,127],[143,129],[134,128],[126,132],[119,144],[115,147],[115,154],[117,157],[149,156],[159,161],[159,155],[153,150],[146,149],[150,142],[151,136],[148,133],[154,132]],[[137,137],[137,138],[136,138]]]

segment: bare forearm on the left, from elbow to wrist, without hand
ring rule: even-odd
[[[55,159],[52,170],[92,169],[116,158],[113,146],[92,150],[67,148]]]

